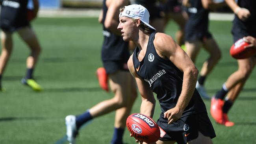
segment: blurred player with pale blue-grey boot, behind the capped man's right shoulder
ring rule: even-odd
[[[210,96],[208,96],[204,89],[204,81],[221,58],[221,51],[211,33],[208,31],[208,15],[210,10],[223,7],[226,4],[224,2],[215,3],[212,0],[184,0],[183,4],[187,7],[187,13],[189,15],[189,20],[185,28],[185,46],[187,54],[194,63],[201,47],[210,54],[202,65],[196,85],[202,98],[210,99]]]

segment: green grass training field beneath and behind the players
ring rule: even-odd
[[[23,86],[20,79],[26,70],[29,50],[15,34],[14,50],[4,73],[0,93],[1,144],[54,144],[65,135],[64,118],[80,114],[113,93],[100,89],[95,77],[96,68],[102,66],[100,49],[103,41],[102,26],[97,18],[37,18],[32,23],[42,46],[42,54],[35,70],[35,78],[44,87],[33,92]],[[210,31],[218,42],[223,57],[206,81],[206,90],[213,95],[228,76],[237,69],[237,62],[229,55],[232,44],[230,21],[211,21]],[[166,33],[174,36],[177,26],[171,22]],[[201,50],[196,66],[200,70],[208,54]],[[215,144],[255,144],[256,73],[252,72],[229,117],[236,124],[224,127],[216,124],[209,115],[217,137]],[[139,112],[138,97],[133,113]],[[204,101],[210,114],[210,101]],[[154,119],[160,114],[156,107]],[[113,133],[115,113],[96,118],[81,129],[78,144],[109,144]],[[124,142],[133,144],[128,131]]]

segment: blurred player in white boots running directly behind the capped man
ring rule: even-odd
[[[102,61],[108,74],[114,97],[102,101],[78,116],[65,118],[67,140],[74,144],[80,127],[89,120],[116,110],[114,134],[111,144],[123,144],[122,137],[132,105],[137,97],[136,83],[130,74],[127,61],[130,57],[128,42],[124,42],[119,24],[119,8],[130,4],[129,0],[103,0],[103,8],[99,21],[103,24],[104,42],[102,45]]]

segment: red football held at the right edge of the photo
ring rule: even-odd
[[[245,42],[243,39],[236,41],[230,48],[230,55],[235,59],[246,59],[256,54],[256,48],[245,46],[249,43]]]

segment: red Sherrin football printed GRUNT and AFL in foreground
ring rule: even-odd
[[[156,142],[160,138],[160,129],[156,122],[140,113],[134,113],[128,116],[126,126],[133,137],[143,142]]]

